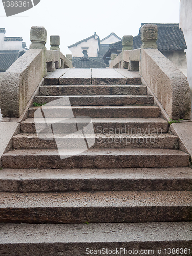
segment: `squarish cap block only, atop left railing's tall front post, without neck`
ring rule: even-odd
[[[30,41],[42,42],[46,44],[47,41],[47,30],[44,27],[31,27],[30,31]]]

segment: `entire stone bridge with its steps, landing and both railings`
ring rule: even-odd
[[[157,26],[109,69],[73,69],[46,37],[32,27],[1,82],[0,254],[190,255],[190,88]]]

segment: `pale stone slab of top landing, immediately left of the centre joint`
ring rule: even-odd
[[[70,69],[59,78],[59,84],[91,84],[91,69]]]

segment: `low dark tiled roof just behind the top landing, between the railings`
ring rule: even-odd
[[[73,67],[74,68],[107,68],[108,65],[106,65],[103,62],[102,58],[98,57],[88,57],[88,56],[83,56],[82,58],[80,57],[73,57],[72,60]]]

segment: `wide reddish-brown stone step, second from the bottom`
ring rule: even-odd
[[[192,221],[191,191],[0,193],[0,222]]]

